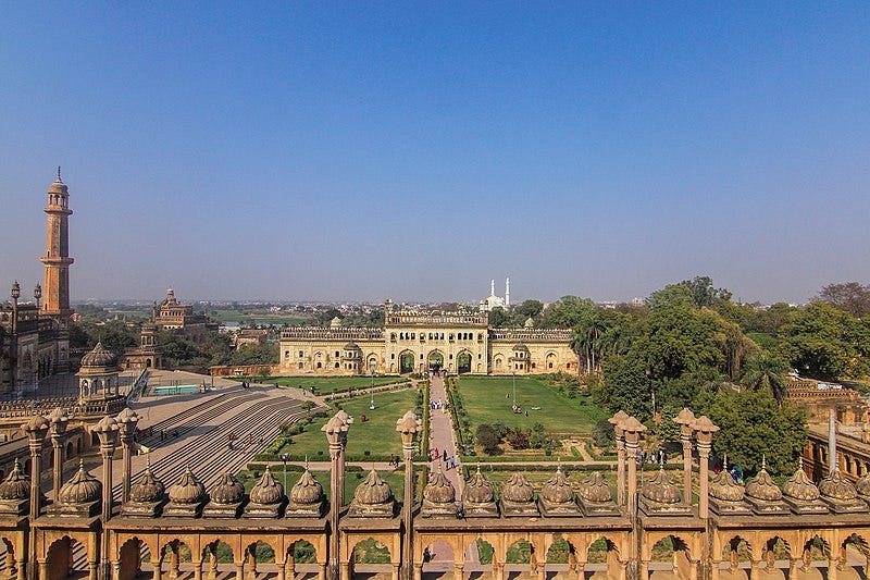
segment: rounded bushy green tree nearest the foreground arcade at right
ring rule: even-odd
[[[780,406],[768,391],[722,391],[701,394],[695,414],[707,415],[719,425],[713,452],[728,454],[730,464],[738,464],[749,473],[761,468],[767,457],[772,476],[791,476],[807,440],[804,410],[788,403]]]

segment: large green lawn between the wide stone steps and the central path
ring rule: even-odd
[[[401,442],[396,432],[396,421],[417,405],[417,388],[407,388],[374,395],[375,409],[369,409],[369,397],[353,397],[341,400],[341,407],[353,417],[353,424],[347,434],[347,454],[355,460],[365,457],[385,457],[390,453],[401,455]],[[330,416],[333,414],[331,412]],[[365,421],[362,417],[365,416]],[[421,418],[422,419],[422,418]],[[289,453],[295,459],[308,455],[311,460],[325,461],[330,458],[326,435],[320,430],[326,419],[318,419],[306,428],[303,433],[293,436],[293,443],[278,449],[278,454]]]

